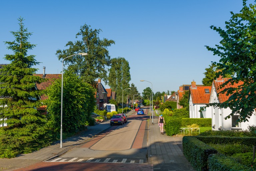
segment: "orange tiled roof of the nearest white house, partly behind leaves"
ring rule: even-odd
[[[223,78],[223,81],[216,81],[216,80],[213,80],[213,84],[214,84],[214,87],[215,87],[215,90],[216,90],[216,93],[218,94],[218,99],[219,99],[219,102],[220,103],[223,103],[225,101],[227,101],[229,99],[229,97],[231,96],[231,94],[229,94],[227,96],[227,93],[225,92],[224,94],[221,94],[220,92],[222,90],[224,90],[225,88],[231,88],[231,87],[238,87],[242,84],[244,84],[243,81],[239,81],[238,83],[234,83],[234,85],[231,85],[230,83],[228,83],[227,85],[225,85],[225,87],[223,88],[220,88],[220,85],[222,85],[223,83],[225,83],[226,81],[228,81],[229,79],[231,78]]]

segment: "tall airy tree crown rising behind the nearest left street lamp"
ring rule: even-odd
[[[75,71],[77,75],[91,85],[94,80],[101,78],[107,82],[107,69],[110,66],[110,56],[107,48],[114,44],[113,40],[100,39],[101,29],[91,29],[91,26],[84,24],[76,34],[80,38],[75,42],[69,41],[66,44],[68,49],[56,51],[59,60],[78,53],[88,53],[86,56],[75,56],[67,58],[64,64],[68,64],[68,69]]]

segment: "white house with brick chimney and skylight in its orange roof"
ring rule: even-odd
[[[211,86],[196,86],[193,80],[189,87],[188,103],[189,118],[211,118],[212,109],[206,107],[209,104]],[[201,110],[201,112],[199,112]]]

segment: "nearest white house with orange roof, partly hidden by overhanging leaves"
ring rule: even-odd
[[[217,71],[216,71],[217,72]],[[209,99],[209,103],[223,103],[231,95],[227,95],[226,93],[221,94],[220,92],[224,89],[221,88],[220,85],[225,83],[231,78],[222,78],[222,76],[219,76],[216,80],[213,80],[212,83],[212,91],[211,96]],[[229,87],[238,87],[239,85],[242,85],[243,82],[240,81],[238,83],[235,83],[234,85],[227,84],[225,85],[225,88]],[[255,125],[256,124],[256,118],[255,118],[255,110],[253,112],[253,115],[248,118],[247,122],[237,122],[239,118],[239,114],[235,114],[231,116],[229,119],[225,120],[224,118],[228,116],[231,113],[230,108],[219,108],[219,107],[211,107],[212,108],[212,130],[246,130],[249,125]]]

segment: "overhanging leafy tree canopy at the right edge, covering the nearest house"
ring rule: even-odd
[[[238,87],[224,88],[221,93],[231,94],[224,103],[213,103],[211,105],[231,109],[230,115],[240,114],[241,121],[248,121],[256,107],[256,6],[255,4],[246,4],[243,0],[243,8],[239,13],[231,12],[231,18],[226,21],[225,29],[211,26],[222,40],[216,48],[206,46],[214,55],[218,55],[220,60],[214,64],[225,68],[223,75],[233,75],[232,79],[226,81],[233,85],[242,81],[243,84]],[[230,118],[230,115],[227,118]]]

